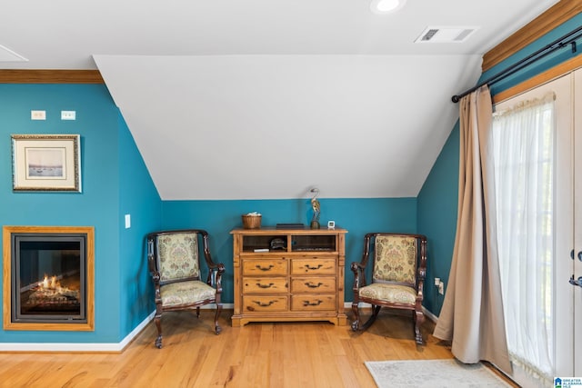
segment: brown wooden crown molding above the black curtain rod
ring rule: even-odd
[[[582,12],[582,0],[561,0],[556,5],[551,6],[546,12],[537,16],[483,55],[482,71],[486,72],[509,56],[516,54],[517,51],[536,41],[558,25],[562,25],[580,12]]]

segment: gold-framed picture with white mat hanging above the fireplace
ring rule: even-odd
[[[81,193],[79,134],[12,134],[13,190]]]

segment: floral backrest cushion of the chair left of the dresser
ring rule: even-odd
[[[199,275],[196,233],[162,234],[157,250],[162,282]]]

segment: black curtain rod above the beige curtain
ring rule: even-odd
[[[508,75],[516,73],[518,70],[521,70],[527,65],[531,65],[537,60],[543,58],[544,56],[553,53],[554,51],[559,50],[567,45],[572,45],[572,53],[576,53],[577,50],[576,40],[577,38],[582,36],[582,33],[580,33],[580,31],[582,31],[582,26],[577,27],[577,29],[570,31],[569,33],[567,33],[567,35],[564,35],[559,39],[555,40],[554,42],[550,43],[546,47],[537,50],[537,52],[535,52],[534,54],[529,55],[526,58],[522,59],[521,61],[515,63],[514,65],[511,65],[506,69],[500,71],[499,73],[497,73],[497,75],[493,75],[492,77],[483,81],[479,85],[470,88],[469,90],[461,93],[460,95],[453,95],[451,100],[453,101],[453,103],[458,103],[462,97],[475,92],[479,87],[483,85],[493,85],[498,81],[501,81],[502,79],[506,78]]]

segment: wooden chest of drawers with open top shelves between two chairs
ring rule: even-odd
[[[249,322],[346,324],[344,229],[235,229],[233,326]],[[279,244],[272,249],[275,239]]]

